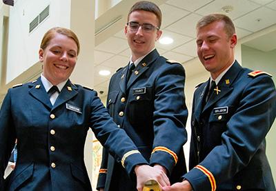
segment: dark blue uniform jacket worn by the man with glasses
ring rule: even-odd
[[[188,111],[184,97],[184,68],[152,50],[140,61],[128,82],[127,72],[128,66],[125,66],[110,79],[108,111],[150,165],[163,165],[168,170],[170,181],[179,181],[181,173],[186,172],[183,145],[187,139]],[[97,188],[116,190],[114,186],[119,183],[112,185],[112,177],[121,174],[115,172],[115,165],[114,159],[103,150]],[[126,180],[126,185],[128,183]]]

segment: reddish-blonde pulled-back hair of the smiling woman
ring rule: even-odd
[[[77,55],[79,55],[79,39],[77,38],[77,35],[72,32],[72,30],[68,29],[68,28],[61,28],[61,27],[55,27],[55,28],[51,28],[50,30],[48,30],[44,36],[43,39],[41,41],[40,44],[40,48],[45,50],[50,42],[50,40],[52,40],[55,37],[55,34],[63,34],[68,38],[71,38],[75,41],[75,43],[77,44]]]

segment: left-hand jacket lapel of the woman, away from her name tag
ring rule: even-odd
[[[40,77],[28,86],[30,88],[29,93],[32,95],[32,97],[46,105],[48,109],[52,108],[49,96],[41,82]]]

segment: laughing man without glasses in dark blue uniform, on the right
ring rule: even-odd
[[[210,79],[195,90],[190,172],[164,190],[275,190],[266,134],[276,114],[270,75],[242,68],[237,35],[224,14],[197,23],[197,54]]]

